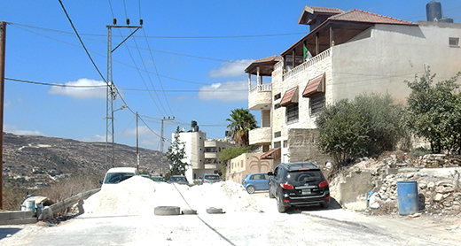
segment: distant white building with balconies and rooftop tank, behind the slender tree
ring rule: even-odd
[[[174,138],[173,134],[173,138]],[[191,165],[186,172],[189,181],[203,177],[205,173],[221,174],[221,162],[218,152],[224,148],[233,147],[229,139],[207,140],[207,134],[199,131],[196,121],[191,122],[191,130],[183,129],[179,133],[180,142],[184,142],[184,162]]]

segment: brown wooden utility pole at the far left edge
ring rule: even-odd
[[[4,208],[4,52],[6,22],[0,22],[0,209]]]

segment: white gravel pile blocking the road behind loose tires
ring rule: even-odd
[[[83,204],[86,213],[128,215],[152,214],[156,206],[178,206],[199,213],[209,207],[223,208],[225,212],[260,211],[254,198],[234,181],[189,187],[140,176],[101,190]]]

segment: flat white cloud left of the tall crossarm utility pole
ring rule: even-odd
[[[68,81],[65,85],[69,87],[52,87],[48,93],[72,96],[75,98],[104,98],[106,96],[104,81],[79,79],[78,81]]]

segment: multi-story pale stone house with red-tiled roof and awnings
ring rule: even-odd
[[[298,23],[309,25],[309,34],[280,56],[246,68],[248,107],[261,111],[249,142],[261,145],[263,158],[273,156],[274,164],[329,160],[316,148],[315,130],[326,104],[363,93],[388,93],[404,104],[410,94],[405,81],[429,68],[435,81],[461,71],[461,24],[309,6]]]

